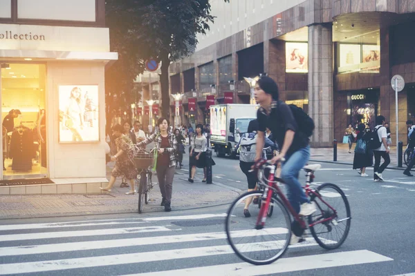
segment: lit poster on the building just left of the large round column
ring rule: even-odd
[[[286,72],[308,72],[308,43],[286,42]]]

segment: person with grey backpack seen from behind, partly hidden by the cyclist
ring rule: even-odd
[[[239,152],[239,168],[246,175],[248,181],[248,192],[257,190],[257,174],[254,171],[250,171],[251,167],[255,164],[255,155],[257,154],[257,138],[258,138],[259,124],[258,120],[252,120],[248,124],[248,132],[243,133],[239,143],[237,144],[237,151]],[[265,138],[265,147],[270,147],[272,150],[277,150],[277,146],[273,141]],[[264,157],[266,158],[266,157]],[[243,215],[250,217],[249,206],[251,204],[252,197],[248,197],[245,201],[245,207],[243,208]],[[258,204],[258,198],[255,197],[253,204]]]

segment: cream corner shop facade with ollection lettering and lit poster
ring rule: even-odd
[[[100,191],[116,59],[104,0],[0,0],[0,194]]]

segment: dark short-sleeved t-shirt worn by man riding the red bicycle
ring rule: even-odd
[[[284,146],[284,138],[287,130],[295,132],[293,143],[288,149],[287,155],[292,155],[300,148],[308,146],[308,137],[298,130],[291,108],[284,102],[273,102],[269,115],[266,115],[264,108],[259,108],[257,112],[259,131],[265,132],[266,128],[271,130],[273,138],[277,141],[279,148]]]

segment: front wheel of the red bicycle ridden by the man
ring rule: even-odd
[[[251,216],[243,214],[246,200],[255,197],[261,198],[262,193],[254,190],[240,195],[230,206],[225,221],[226,235],[230,246],[243,261],[255,265],[270,264],[288,248],[291,239],[290,216],[284,204],[272,197],[273,217],[266,217],[264,228],[256,229],[259,209],[251,205]]]

